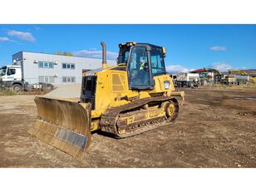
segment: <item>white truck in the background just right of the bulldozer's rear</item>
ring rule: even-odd
[[[177,74],[176,86],[180,87],[193,87],[199,86],[199,74],[190,72],[180,72]]]

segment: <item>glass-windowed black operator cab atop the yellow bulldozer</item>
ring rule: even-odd
[[[154,76],[166,74],[165,47],[148,43],[126,42],[119,44],[118,64],[127,66],[129,88],[132,90],[152,90]]]

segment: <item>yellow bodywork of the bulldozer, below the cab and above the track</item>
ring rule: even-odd
[[[184,96],[184,93],[175,91],[173,81],[167,74],[154,76],[155,86],[153,90],[149,91],[132,91],[129,89],[126,66],[123,64],[109,67],[106,70],[87,71],[83,76],[88,74],[97,76],[95,110],[91,111],[92,119],[101,117],[107,108],[125,105],[133,98],[142,99],[155,96],[155,94]],[[165,89],[165,81],[170,81],[169,89]]]

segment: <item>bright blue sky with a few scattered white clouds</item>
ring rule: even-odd
[[[20,51],[101,58],[101,41],[108,59],[116,59],[120,42],[165,46],[171,72],[256,68],[256,25],[0,25],[0,66]]]

